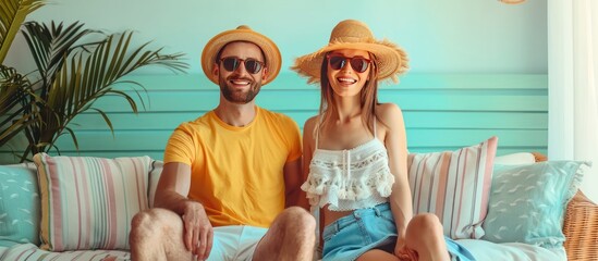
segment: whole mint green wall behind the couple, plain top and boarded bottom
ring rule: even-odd
[[[110,18],[109,18],[110,17]],[[145,84],[149,104],[133,115],[123,100],[106,97],[96,105],[108,112],[114,136],[98,114],[81,115],[72,127],[81,151],[64,137],[65,154],[161,159],[166,140],[182,121],[218,102],[218,88],[202,74],[199,55],[223,29],[248,24],[270,36],[282,51],[283,71],[263,89],[258,103],[291,115],[303,125],[316,113],[318,89],[289,71],[295,57],[326,45],[343,18],[369,24],[375,35],[403,46],[411,72],[400,84],[385,85],[380,99],[404,110],[411,151],[453,150],[499,136],[499,154],[547,149],[546,2],[507,5],[496,0],[369,1],[144,1],[54,0],[29,16],[38,21],[82,21],[109,32],[134,29],[171,52],[187,53],[187,75],[146,70],[133,78]],[[20,46],[21,45],[21,46]],[[16,39],[7,62],[32,64]],[[19,148],[17,142],[14,144]],[[10,163],[0,148],[0,163]]]

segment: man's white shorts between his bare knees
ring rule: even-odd
[[[213,243],[208,261],[252,260],[257,244],[268,228],[257,226],[213,227]]]

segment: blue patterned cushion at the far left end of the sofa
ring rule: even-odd
[[[39,245],[39,192],[35,166],[0,165],[0,246]]]

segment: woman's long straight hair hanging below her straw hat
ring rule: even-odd
[[[361,91],[359,105],[362,107],[362,122],[374,134],[374,121],[378,117],[376,114],[376,105],[380,104],[378,102],[378,67],[376,66],[376,57],[374,53],[369,53],[370,63],[369,63],[369,79],[365,83],[364,88]],[[347,66],[350,66],[347,64]],[[320,109],[319,116],[324,119],[318,119],[319,128],[322,128],[324,125],[330,119],[330,115],[337,114],[339,109],[334,102],[334,90],[330,86],[330,80],[328,79],[328,55],[324,55],[321,69],[320,69]],[[328,113],[325,113],[328,112]],[[317,130],[317,128],[315,129]]]

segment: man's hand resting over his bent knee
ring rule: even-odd
[[[197,260],[208,259],[213,239],[213,228],[208,220],[206,210],[204,210],[204,207],[199,202],[190,200],[185,203],[182,217],[185,247],[193,254],[197,256]]]

